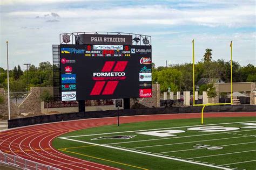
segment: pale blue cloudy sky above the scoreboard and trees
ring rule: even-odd
[[[152,61],[156,66],[196,61],[211,48],[213,60],[233,60],[256,65],[255,0],[1,0],[0,67],[39,62],[52,63],[52,45],[59,34],[113,31],[152,36]]]

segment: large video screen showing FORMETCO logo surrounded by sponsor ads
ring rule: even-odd
[[[151,46],[60,45],[62,101],[152,97]]]

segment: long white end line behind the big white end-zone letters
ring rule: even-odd
[[[85,137],[85,136],[96,136],[96,135],[116,134],[116,133],[143,132],[143,131],[153,131],[153,130],[162,130],[162,129],[190,128],[190,127],[195,127],[195,126],[209,126],[209,125],[224,125],[224,124],[250,123],[250,122],[256,122],[256,121],[229,122],[229,123],[217,123],[217,124],[208,124],[208,125],[193,125],[193,126],[180,126],[180,127],[172,127],[172,128],[145,129],[145,130],[124,131],[124,132],[98,133],[98,134],[84,134],[84,135],[78,135],[78,136],[65,136],[65,138],[75,138],[75,137]]]

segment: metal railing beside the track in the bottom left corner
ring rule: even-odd
[[[3,153],[0,151],[0,164],[6,166],[12,166],[21,169],[31,169],[31,170],[60,170],[59,168],[55,168],[49,165],[40,164],[38,162],[34,162],[28,159],[24,159],[21,157],[17,157],[15,155],[11,155],[8,153]]]

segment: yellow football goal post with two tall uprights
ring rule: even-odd
[[[204,124],[204,109],[207,105],[226,105],[233,104],[233,44],[230,42],[230,50],[231,50],[231,99],[230,103],[206,103],[206,104],[195,104],[194,103],[194,94],[195,94],[195,86],[194,86],[194,39],[192,40],[192,60],[193,60],[193,106],[203,106],[201,110],[201,124]]]

